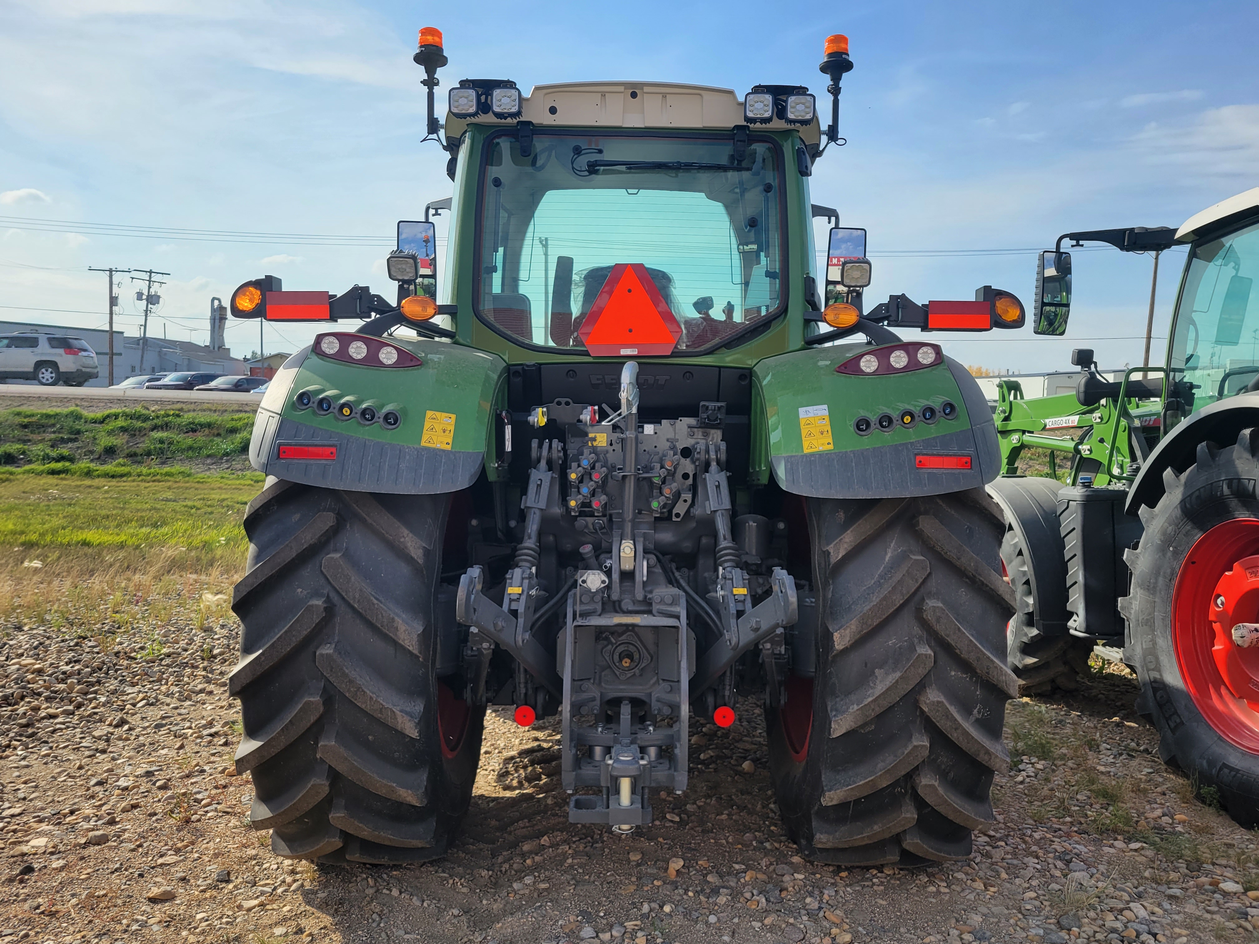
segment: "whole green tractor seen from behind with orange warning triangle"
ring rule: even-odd
[[[803,855],[964,858],[1017,687],[1000,453],[967,370],[893,329],[1019,327],[1022,305],[865,311],[865,232],[838,227],[818,292],[845,37],[826,128],[802,86],[500,79],[451,88],[439,123],[441,42],[415,62],[453,195],[399,223],[397,298],[233,293],[327,322],[251,444],[230,691],[253,826],[292,858],[441,856],[495,705],[558,715],[569,818],[628,832],[686,789],[696,725],[758,696]]]

